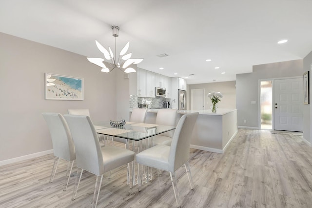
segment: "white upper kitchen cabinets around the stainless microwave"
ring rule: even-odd
[[[137,72],[130,73],[130,95],[155,98],[156,87],[166,88],[166,98],[171,98],[171,78],[151,71],[137,68]]]

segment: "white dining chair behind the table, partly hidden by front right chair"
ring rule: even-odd
[[[176,126],[177,109],[159,109],[155,124]],[[171,145],[175,130],[168,131],[153,137],[154,145]]]

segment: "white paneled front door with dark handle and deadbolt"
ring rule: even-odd
[[[274,80],[274,130],[303,131],[302,78]]]

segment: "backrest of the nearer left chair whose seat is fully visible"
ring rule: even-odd
[[[72,133],[77,166],[93,174],[104,173],[104,162],[98,135],[89,116],[64,115]]]

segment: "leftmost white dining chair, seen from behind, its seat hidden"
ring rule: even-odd
[[[67,189],[74,161],[76,159],[72,135],[64,117],[60,113],[42,113],[42,116],[45,119],[51,134],[53,153],[55,156],[50,183],[52,183],[54,180],[59,165],[59,160],[67,160],[68,166],[66,176],[68,175],[68,178],[66,177],[63,188],[65,191]]]

